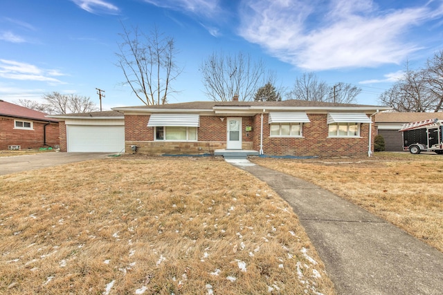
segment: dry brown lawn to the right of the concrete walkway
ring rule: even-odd
[[[443,251],[443,156],[375,153],[372,158],[253,162],[317,184]]]

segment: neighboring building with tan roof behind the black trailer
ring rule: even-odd
[[[401,126],[410,122],[428,119],[443,120],[443,112],[438,113],[400,113],[386,112],[375,115],[378,134],[383,136],[386,151],[403,151],[403,134]]]

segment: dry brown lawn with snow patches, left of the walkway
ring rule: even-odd
[[[0,203],[0,294],[334,294],[289,204],[223,160],[3,175]]]

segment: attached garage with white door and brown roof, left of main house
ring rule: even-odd
[[[53,117],[62,123],[61,151],[125,153],[125,117],[122,113],[104,111]]]

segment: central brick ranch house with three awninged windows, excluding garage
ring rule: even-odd
[[[226,149],[263,155],[362,156],[373,151],[377,131],[372,115],[390,108],[233,100],[113,109],[125,114],[126,152],[136,146],[138,153],[148,155]]]

